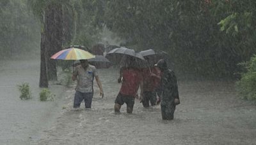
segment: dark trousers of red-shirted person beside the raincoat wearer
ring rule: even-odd
[[[149,102],[151,106],[156,105],[156,92],[154,91],[148,91],[143,92],[143,100],[141,101],[143,104],[143,107],[149,107]]]

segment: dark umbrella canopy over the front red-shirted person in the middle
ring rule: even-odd
[[[134,50],[120,47],[109,51],[106,54],[111,62],[120,64],[120,66],[132,66],[132,67],[147,67],[145,65],[145,59],[140,53],[136,53]]]

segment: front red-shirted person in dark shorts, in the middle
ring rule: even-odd
[[[124,103],[127,105],[127,113],[132,113],[138,88],[140,85],[143,86],[141,70],[131,66],[122,67],[118,83],[121,83],[121,79],[122,86],[115,99],[115,113],[120,113],[121,106]]]

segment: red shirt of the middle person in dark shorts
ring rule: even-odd
[[[141,71],[138,69],[125,68],[123,70],[123,82],[120,93],[135,97],[138,92],[140,81],[142,81]]]

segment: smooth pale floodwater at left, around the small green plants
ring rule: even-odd
[[[40,130],[50,127],[60,114],[64,86],[51,85],[54,102],[39,101],[40,62],[1,60],[0,63],[0,144],[31,144],[40,139]],[[17,85],[29,83],[32,99],[20,100]],[[53,89],[54,88],[54,89]]]

